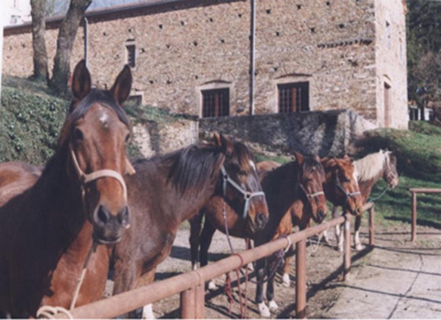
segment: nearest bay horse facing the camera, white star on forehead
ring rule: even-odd
[[[110,91],[91,89],[86,64],[73,72],[71,112],[54,155],[40,172],[23,164],[0,172],[27,171],[0,181],[23,183],[1,198],[0,310],[35,317],[41,305],[69,308],[86,256],[93,245],[118,241],[128,226],[125,141],[121,104],[131,86],[127,66]],[[8,184],[2,185],[1,195]],[[106,246],[98,246],[78,294],[78,305],[103,296]]]

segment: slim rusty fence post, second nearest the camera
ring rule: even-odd
[[[306,239],[296,243],[295,318],[306,318]]]

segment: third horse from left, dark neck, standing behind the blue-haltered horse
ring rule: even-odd
[[[322,193],[323,167],[319,163],[318,157],[304,157],[296,153],[296,158],[297,161],[260,174],[262,188],[266,194],[270,209],[270,220],[263,230],[257,231],[254,234],[247,232],[245,223],[228,205],[225,205],[226,220],[224,220],[222,215],[223,204],[220,197],[212,198],[204,206],[199,213],[199,219],[191,221],[190,246],[192,247],[193,266],[196,265],[199,243],[200,265],[202,267],[208,263],[208,248],[213,234],[216,229],[225,232],[225,223],[230,235],[240,238],[250,237],[254,240],[255,246],[259,246],[274,238],[282,217],[298,199],[306,203],[306,206],[311,209],[308,212],[315,221],[321,222],[323,220],[326,214],[326,200]],[[261,164],[261,166],[264,166],[264,164]],[[205,223],[199,236],[203,215],[205,215]],[[263,301],[262,290],[265,262],[265,259],[261,259],[256,263],[257,280],[259,282],[256,291],[256,303],[258,304],[260,314],[263,317],[269,317],[270,309]],[[275,310],[277,304],[274,301],[273,295],[273,289],[270,287],[267,290],[267,298],[270,301],[270,307]]]

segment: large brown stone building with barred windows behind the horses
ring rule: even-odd
[[[132,98],[177,113],[349,109],[407,128],[405,14],[404,0],[147,0],[86,14],[88,65],[105,87],[129,63]],[[84,46],[80,31],[72,67]],[[5,28],[3,50],[5,74],[32,73],[29,25]]]

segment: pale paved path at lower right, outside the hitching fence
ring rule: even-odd
[[[378,235],[363,267],[332,285],[340,296],[327,317],[441,318],[441,234],[433,230],[416,244],[401,232]]]

